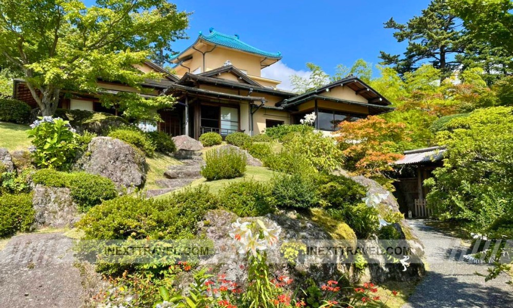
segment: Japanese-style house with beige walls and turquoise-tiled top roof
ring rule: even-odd
[[[354,76],[303,94],[280,90],[281,82],[264,78],[261,71],[281,59],[280,52],[260,50],[241,41],[239,35],[211,28],[173,57],[173,72],[146,62],[141,70],[160,72],[165,78],[145,83],[150,89],[145,95],[173,95],[178,102],[171,109],[157,111],[163,120],[157,129],[195,139],[210,131],[222,136],[243,131],[252,136],[267,127],[298,124],[305,114],[315,112],[315,127],[334,131],[342,121],[393,110],[386,98]],[[122,84],[98,83],[107,93],[131,91]],[[35,105],[23,81],[15,81],[14,97]],[[87,93],[63,97],[60,106],[112,112]]]

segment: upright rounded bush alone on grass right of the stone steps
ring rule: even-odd
[[[201,175],[207,181],[242,177],[246,171],[246,155],[235,148],[211,149],[205,153]]]

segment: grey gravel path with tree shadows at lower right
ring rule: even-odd
[[[403,308],[417,307],[513,307],[513,287],[508,277],[484,281],[475,272],[486,274],[486,264],[460,261],[467,254],[460,239],[427,226],[425,220],[409,220],[424,243],[429,271]],[[459,248],[459,249],[454,249]]]

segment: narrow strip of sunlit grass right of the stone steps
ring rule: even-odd
[[[244,177],[229,179],[229,180],[219,180],[219,181],[207,181],[205,178],[201,178],[201,179],[193,181],[192,183],[190,183],[188,186],[185,186],[185,187],[195,187],[195,186],[203,184],[203,185],[207,185],[210,188],[211,192],[213,192],[214,194],[217,194],[221,189],[223,189],[226,185],[228,185],[230,183],[239,182],[239,181],[243,181],[243,180],[249,180],[249,179],[259,181],[259,182],[265,182],[265,181],[271,180],[274,173],[275,173],[274,171],[271,171],[264,167],[247,166],[246,173],[244,174]],[[184,188],[181,188],[181,189],[184,189]],[[173,192],[168,192],[167,194],[158,196],[156,198],[157,199],[167,198],[172,193]]]

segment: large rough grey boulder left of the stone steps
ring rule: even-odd
[[[80,159],[81,168],[111,179],[120,192],[133,191],[146,182],[146,160],[131,145],[110,137],[95,137]]]

